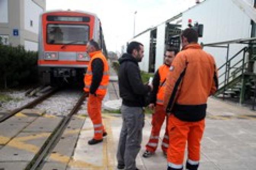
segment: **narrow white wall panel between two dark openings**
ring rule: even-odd
[[[163,64],[165,52],[165,23],[157,27],[157,45],[155,54],[155,71]]]

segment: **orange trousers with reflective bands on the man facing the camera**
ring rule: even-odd
[[[150,152],[155,152],[158,146],[158,139],[159,139],[159,134],[161,127],[163,125],[163,121],[165,120],[166,117],[166,112],[163,108],[163,105],[156,105],[155,106],[155,113],[152,114],[152,129],[151,129],[151,134],[149,137],[149,142],[146,145],[146,150]],[[163,136],[163,141],[162,141],[162,150],[164,152],[167,152],[167,148],[169,145],[169,137],[168,137],[168,130],[167,130],[167,124],[168,124],[168,119],[166,118],[166,129],[165,129],[165,135]]]

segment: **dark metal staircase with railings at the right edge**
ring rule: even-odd
[[[233,43],[248,44],[248,46],[245,46],[234,56],[229,58],[229,46]],[[256,38],[202,45],[208,47],[227,48],[226,62],[218,68],[218,71],[222,70],[222,72],[218,77],[219,89],[216,92],[215,97],[230,99],[239,103],[250,103],[253,105],[254,109],[256,98],[256,74],[254,73]]]

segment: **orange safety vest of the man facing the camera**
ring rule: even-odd
[[[158,87],[158,93],[157,93],[157,104],[163,105],[163,98],[165,95],[165,81],[167,73],[169,72],[170,67],[163,64],[158,68],[158,73],[160,75],[160,84]]]

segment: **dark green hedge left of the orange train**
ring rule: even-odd
[[[37,52],[0,44],[0,87],[36,83]]]

